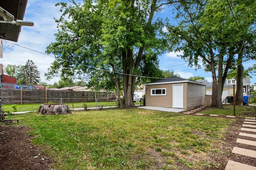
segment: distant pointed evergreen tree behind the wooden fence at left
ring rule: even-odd
[[[40,72],[32,60],[28,60],[24,66],[20,66],[17,76],[20,84],[38,84],[40,82]]]

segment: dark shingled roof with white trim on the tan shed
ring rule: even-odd
[[[148,85],[153,85],[153,84],[170,84],[170,83],[184,83],[184,82],[190,82],[190,83],[195,83],[195,84],[202,84],[202,85],[206,85],[203,84],[201,82],[195,82],[195,81],[191,81],[185,78],[181,78],[181,77],[177,77],[177,76],[170,76],[167,78],[162,78],[160,80],[156,80],[154,82],[150,82],[148,83]]]

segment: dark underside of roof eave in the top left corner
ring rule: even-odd
[[[23,20],[27,0],[0,0],[0,6],[14,16],[14,20]],[[4,18],[0,15],[0,21]],[[11,23],[0,23],[0,39],[18,41],[21,26]]]

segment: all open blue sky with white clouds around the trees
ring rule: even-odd
[[[61,15],[59,11],[60,7],[55,6],[57,2],[60,2],[60,0],[28,0],[24,21],[32,21],[34,22],[34,26],[22,26],[18,42],[4,40],[4,57],[0,59],[0,63],[4,66],[7,64],[24,65],[28,59],[30,59],[38,66],[41,82],[53,84],[60,80],[58,77],[50,81],[46,80],[44,73],[47,72],[50,64],[54,61],[54,57],[42,54],[46,51],[46,47],[51,42],[55,41],[54,33],[58,31],[54,21],[54,18],[59,19]],[[158,14],[158,16],[169,16],[171,14],[172,12],[166,9],[161,14]],[[183,59],[177,57],[177,55],[180,54],[182,53],[170,52],[159,56],[159,67],[163,68],[163,70],[174,70],[174,72],[180,74],[182,78],[204,76],[206,80],[212,82],[211,72],[204,72],[203,68],[195,71],[195,69],[189,67]],[[244,68],[248,68],[252,66],[252,64],[256,64],[256,61],[243,63]],[[256,76],[252,76],[250,82],[251,84],[255,83]]]

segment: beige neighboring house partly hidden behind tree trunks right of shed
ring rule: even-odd
[[[236,79],[225,80],[222,97],[221,97],[222,101],[224,101],[227,96],[234,96],[233,85],[235,85],[235,92],[236,92]],[[212,95],[212,84],[208,84],[206,86],[206,94]],[[246,76],[246,78],[243,79],[243,95],[250,96],[250,76]]]

